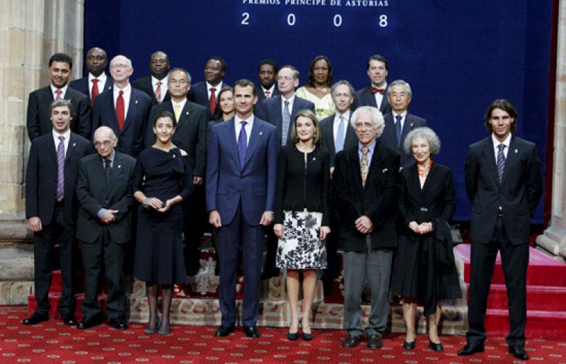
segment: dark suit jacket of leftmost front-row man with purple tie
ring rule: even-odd
[[[75,186],[79,176],[79,161],[91,154],[92,144],[71,132],[64,166],[64,221],[76,223]],[[37,216],[41,223],[52,222],[57,203],[57,148],[53,135],[37,137],[31,143],[28,170],[25,178],[25,218]]]

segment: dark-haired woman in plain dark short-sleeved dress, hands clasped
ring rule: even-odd
[[[134,198],[141,203],[137,224],[134,275],[146,282],[149,322],[146,334],[169,334],[173,284],[185,282],[183,262],[183,207],[192,193],[192,167],[183,149],[171,137],[175,118],[168,111],[154,121],[156,142],[139,154]],[[163,313],[157,316],[158,285]],[[158,329],[157,329],[158,328]]]

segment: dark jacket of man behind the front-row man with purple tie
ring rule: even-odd
[[[63,98],[71,101],[74,117],[71,130],[81,137],[91,137],[91,101],[79,91],[67,87]],[[30,93],[28,101],[28,136],[33,142],[40,135],[50,134],[53,129],[49,115],[49,106],[55,101],[51,86],[37,89]]]

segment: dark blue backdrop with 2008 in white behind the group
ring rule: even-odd
[[[487,136],[483,115],[495,98],[519,110],[517,135],[536,142],[544,160],[551,0],[87,0],[85,50],[132,59],[132,79],[149,74],[163,50],[171,67],[204,79],[210,56],[228,62],[225,80],[257,81],[257,64],[294,64],[301,84],[316,55],[333,63],[334,80],[368,84],[370,55],[388,59],[388,81],[412,86],[410,111],[441,138],[436,161],[454,171],[454,219],[469,220],[463,186],[468,144]],[[542,202],[533,222],[543,220]]]

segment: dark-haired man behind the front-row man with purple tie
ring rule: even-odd
[[[79,91],[70,89],[69,78],[73,74],[73,60],[64,53],[55,53],[49,60],[50,86],[37,89],[30,93],[28,101],[28,136],[33,142],[41,135],[50,134],[52,122],[49,107],[54,100],[71,101],[74,118],[71,130],[81,137],[91,137],[91,105],[88,97]]]

